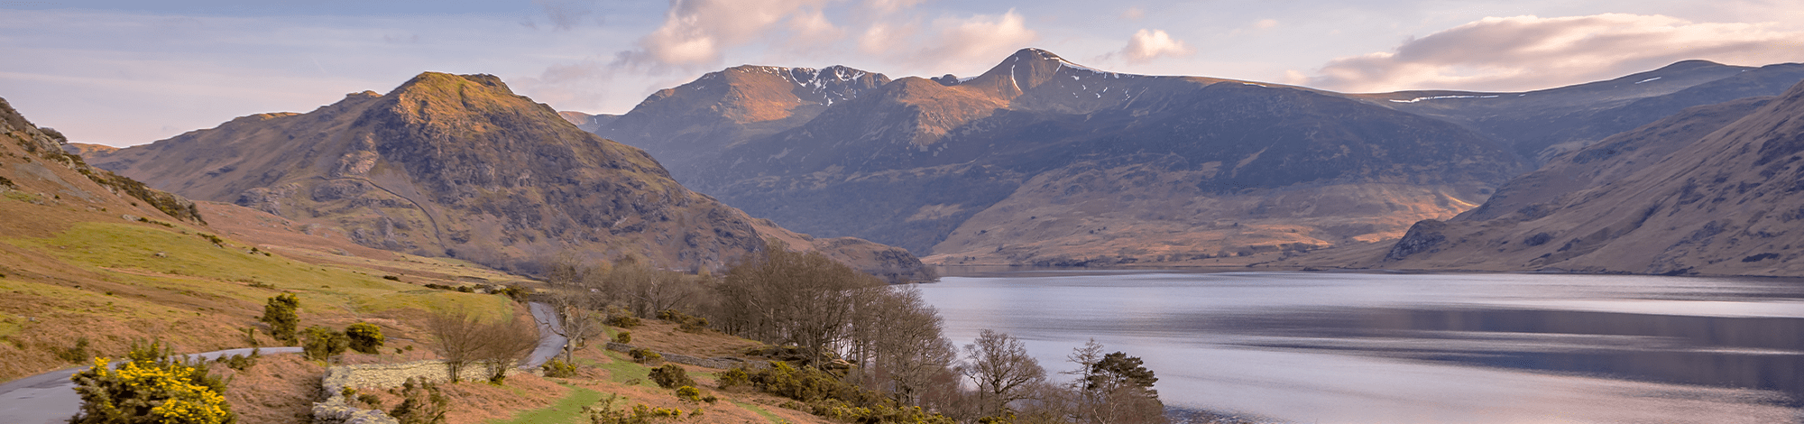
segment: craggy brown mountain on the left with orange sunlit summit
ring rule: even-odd
[[[559,254],[640,254],[713,269],[799,238],[689,191],[642,150],[583,132],[494,76],[424,72],[388,94],[357,92],[307,114],[256,114],[94,157],[101,168],[193,198],[233,202],[343,231],[361,245],[538,272]],[[759,229],[763,227],[763,229]],[[888,263],[875,244],[797,249]],[[861,251],[862,249],[862,251]]]

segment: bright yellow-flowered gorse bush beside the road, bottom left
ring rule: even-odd
[[[106,368],[105,357],[70,377],[81,395],[74,424],[173,422],[227,424],[238,417],[226,404],[226,383],[206,363],[186,363],[162,343],[132,345],[130,363]]]

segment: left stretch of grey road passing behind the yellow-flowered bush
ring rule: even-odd
[[[263,354],[299,354],[301,348],[263,348]],[[249,355],[249,348],[229,348],[218,352],[193,354],[213,361],[220,355]],[[115,361],[121,364],[124,361]],[[47,373],[38,373],[0,384],[0,422],[5,424],[60,424],[81,410],[81,395],[76,395],[76,383],[70,375],[87,370],[74,366]]]

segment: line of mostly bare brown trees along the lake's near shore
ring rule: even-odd
[[[884,283],[819,253],[794,253],[774,242],[720,276],[660,271],[630,258],[612,265],[568,258],[552,263],[545,300],[563,319],[566,357],[601,337],[610,318],[669,310],[675,314],[662,316],[695,316],[713,330],[776,346],[761,354],[792,366],[749,373],[747,383],[828,417],[1165,422],[1153,390],[1158,379],[1138,357],[1106,354],[1091,341],[1068,357],[1068,379],[1054,379],[1019,339],[983,330],[958,346],[918,289]],[[828,388],[788,390],[823,384]]]

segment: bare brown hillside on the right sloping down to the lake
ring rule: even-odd
[[[1804,274],[1804,83],[1555,157],[1366,267]]]

